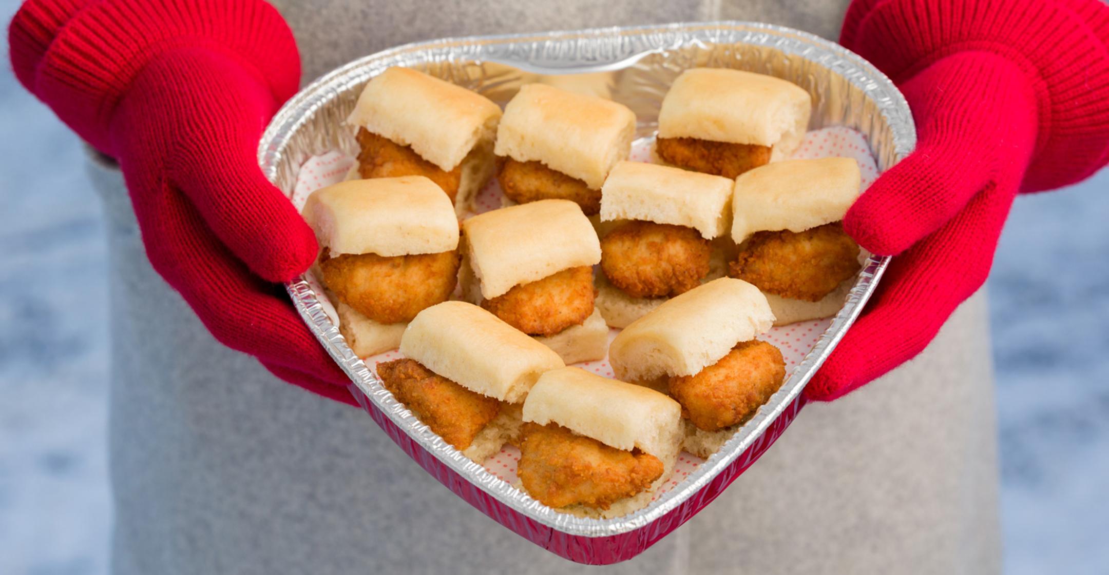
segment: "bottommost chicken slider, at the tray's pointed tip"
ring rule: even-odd
[[[578,368],[540,376],[523,421],[520,486],[580,516],[617,517],[647,506],[681,451],[674,400]]]

